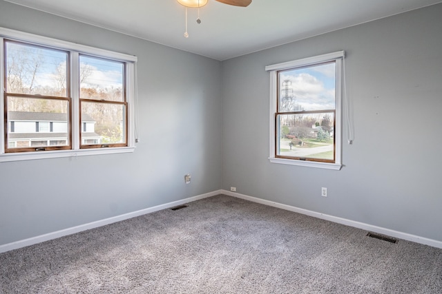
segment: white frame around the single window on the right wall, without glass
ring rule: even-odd
[[[294,61],[287,61],[285,63],[277,63],[267,65],[265,70],[270,74],[270,112],[269,112],[269,160],[272,163],[282,165],[298,165],[301,167],[316,167],[320,169],[334,169],[340,170],[342,167],[342,94],[343,94],[343,59],[345,58],[344,51],[333,52],[318,56],[307,57],[305,59],[297,59]],[[335,162],[316,162],[298,159],[277,158],[276,157],[276,120],[275,114],[278,101],[278,71],[289,70],[294,67],[315,65],[318,63],[325,63],[327,61],[336,61],[336,117],[335,117]]]

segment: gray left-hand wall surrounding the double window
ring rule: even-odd
[[[220,189],[219,61],[4,1],[0,26],[136,55],[141,138],[133,154],[1,162],[0,245]]]

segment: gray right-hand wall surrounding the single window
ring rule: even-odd
[[[442,241],[441,15],[439,4],[224,61],[223,189]],[[345,167],[269,163],[265,65],[338,50],[355,129]]]

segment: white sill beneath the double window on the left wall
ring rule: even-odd
[[[37,160],[46,158],[62,158],[62,157],[77,157],[77,156],[91,156],[103,154],[119,154],[119,153],[133,153],[135,147],[115,147],[115,148],[99,148],[99,149],[77,149],[77,150],[62,150],[62,151],[36,151],[36,152],[21,152],[11,154],[0,154],[0,162],[21,161],[21,160]]]

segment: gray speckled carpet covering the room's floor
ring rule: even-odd
[[[0,293],[442,293],[442,249],[215,196],[0,254]]]

